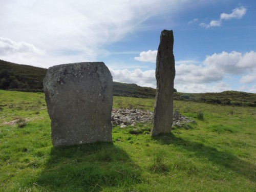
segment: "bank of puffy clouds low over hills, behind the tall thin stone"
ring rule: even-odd
[[[179,92],[194,93],[231,90],[229,84],[224,82],[229,75],[241,77],[240,83],[253,83],[256,80],[255,57],[253,51],[244,54],[223,51],[207,55],[201,63],[194,60],[176,61],[175,88]],[[115,81],[156,87],[155,70],[111,69],[111,73]]]

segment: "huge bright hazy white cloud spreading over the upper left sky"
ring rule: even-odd
[[[93,61],[109,54],[106,46],[143,29],[147,19],[178,12],[186,2],[189,1],[4,1],[0,6],[0,29],[4,37],[46,50],[47,58],[36,56],[31,60],[38,65]],[[4,58],[17,61],[12,56]],[[18,63],[29,61],[22,59]]]

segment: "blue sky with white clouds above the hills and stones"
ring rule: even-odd
[[[256,93],[255,0],[0,0],[0,59],[49,68],[103,61],[114,81],[156,88],[173,30],[178,92]]]

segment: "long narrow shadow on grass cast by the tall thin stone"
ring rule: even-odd
[[[252,163],[243,161],[236,156],[218,151],[211,146],[205,146],[202,143],[184,140],[176,137],[174,134],[161,134],[153,137],[154,140],[159,141],[160,144],[174,144],[184,150],[193,152],[196,157],[206,157],[209,161],[222,165],[231,169],[233,172],[241,174],[251,181],[255,181],[256,166]]]

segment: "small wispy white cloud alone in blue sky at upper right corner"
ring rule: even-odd
[[[233,18],[240,19],[245,15],[246,11],[247,9],[245,7],[238,7],[236,9],[233,9],[230,14],[221,13],[219,20],[211,20],[209,24],[201,23],[199,25],[206,29],[210,27],[220,27],[222,25],[223,20],[230,20]]]

